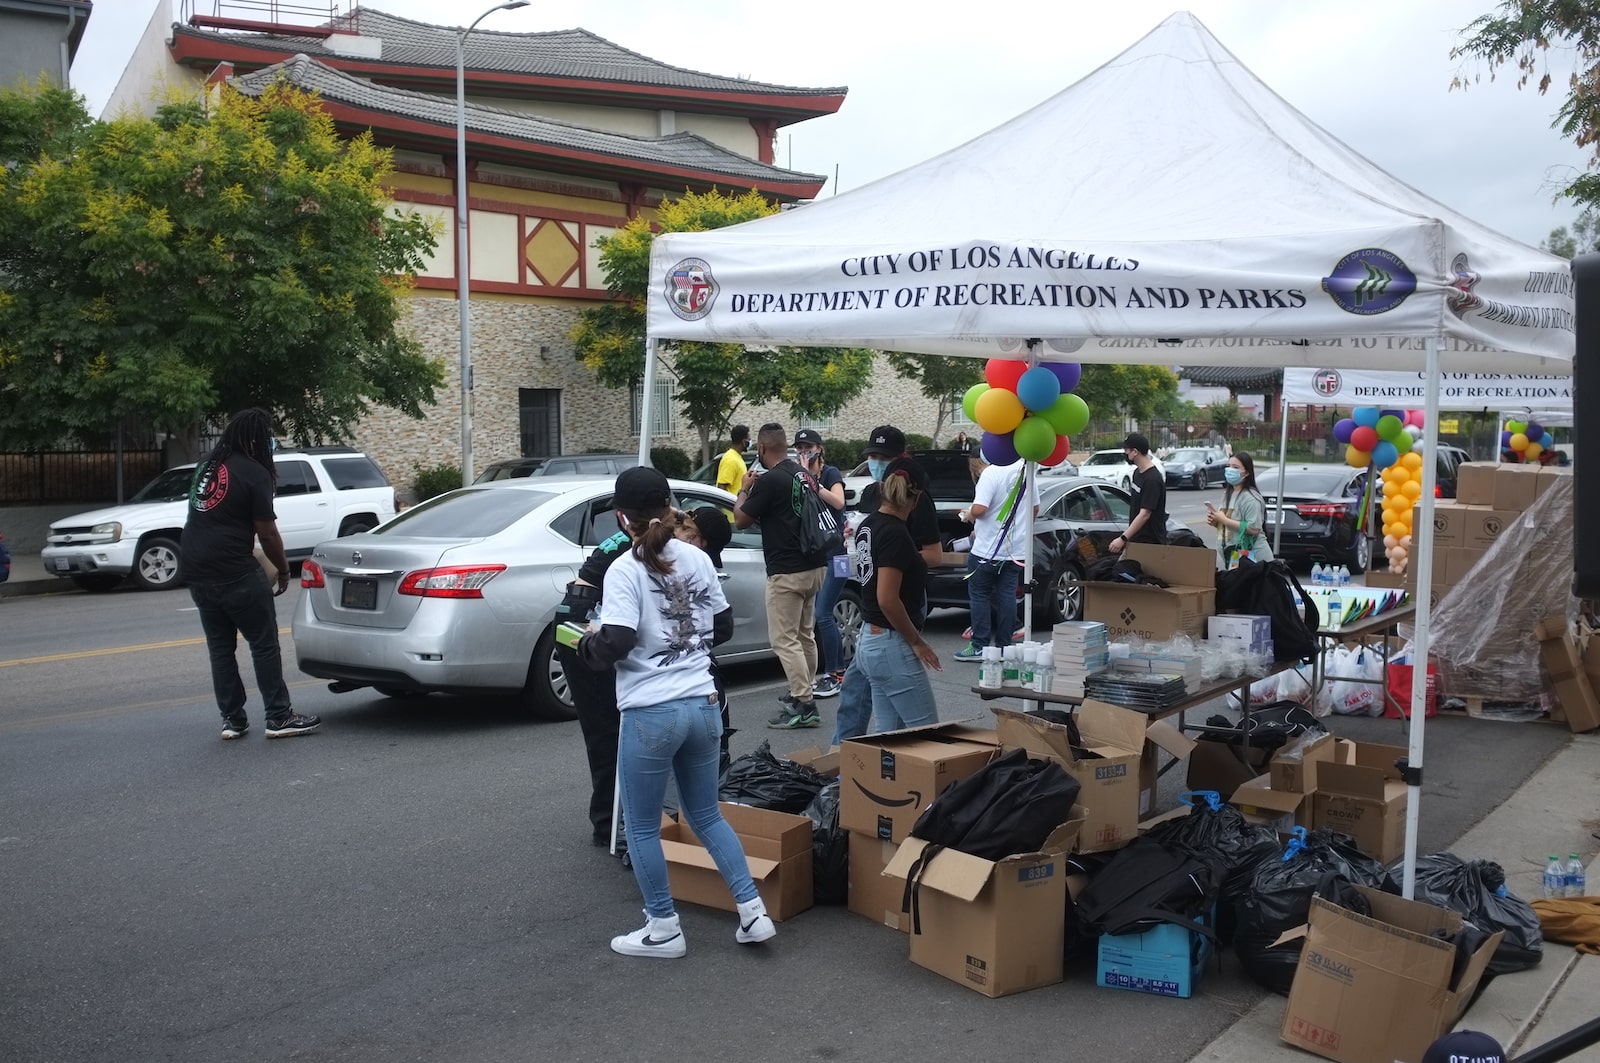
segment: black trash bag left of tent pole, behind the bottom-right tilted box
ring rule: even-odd
[[[1386,893],[1400,892],[1389,869],[1358,850],[1349,834],[1294,828],[1282,860],[1259,864],[1250,889],[1234,903],[1238,914],[1234,954],[1258,985],[1288,996],[1306,941],[1272,943],[1285,930],[1306,924],[1312,893],[1330,872]]]

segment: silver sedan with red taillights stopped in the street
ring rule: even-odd
[[[294,656],[333,690],[390,698],[430,692],[522,698],[573,719],[555,656],[555,607],[597,544],[618,530],[613,477],[528,477],[458,488],[381,528],[318,543],[301,568]],[[733,512],[733,495],[672,480],[686,509]],[[733,640],[722,661],[771,653],[766,564],[757,528],[722,552]]]

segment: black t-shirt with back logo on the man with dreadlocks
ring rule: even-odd
[[[232,583],[256,568],[256,522],[275,520],[272,477],[253,458],[229,455],[205,463],[189,488],[184,525],[184,580]]]

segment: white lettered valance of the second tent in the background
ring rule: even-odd
[[[1315,407],[1421,408],[1427,400],[1426,373],[1389,370],[1283,370],[1283,400]],[[1528,373],[1442,373],[1440,410],[1573,411],[1571,376]]]

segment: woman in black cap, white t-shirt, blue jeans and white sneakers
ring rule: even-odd
[[[632,546],[605,576],[600,631],[578,644],[584,664],[616,668],[621,709],[618,780],[645,925],[611,938],[622,956],[683,956],[683,930],[667,889],[661,807],[677,780],[682,815],[722,871],[739,913],[734,940],[766,941],[778,929],[750,879],[744,848],[717,807],[722,712],[710,647],[733,636],[733,610],[710,557],[675,533],[667,477],[635,467],[613,499]]]

